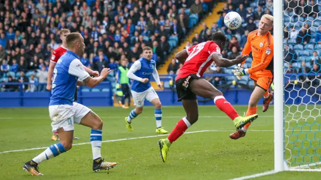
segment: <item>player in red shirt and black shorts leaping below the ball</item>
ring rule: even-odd
[[[168,138],[158,141],[164,162],[167,160],[171,144],[198,120],[197,95],[213,99],[216,106],[234,121],[237,129],[257,118],[257,114],[240,116],[230,102],[225,99],[223,93],[202,78],[203,73],[213,61],[220,67],[229,67],[243,62],[248,57],[248,55],[239,55],[233,60],[223,58],[221,51],[224,50],[226,40],[223,32],[215,32],[212,40],[199,43],[176,54],[175,58],[184,64],[176,77],[175,84],[178,100],[183,103],[186,117],[177,123]]]

